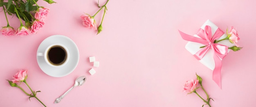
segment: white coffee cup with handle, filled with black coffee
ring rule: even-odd
[[[69,51],[67,47],[60,43],[49,45],[44,53],[37,53],[37,56],[43,56],[45,62],[52,67],[62,67],[69,60]]]

